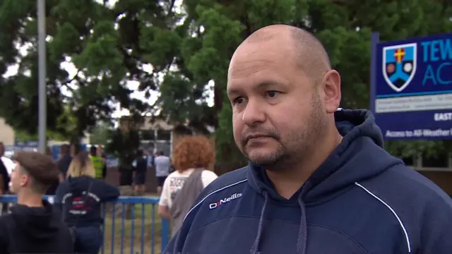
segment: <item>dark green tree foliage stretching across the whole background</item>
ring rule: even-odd
[[[341,106],[351,108],[369,105],[371,32],[379,32],[384,41],[452,28],[448,1],[180,2],[47,0],[49,130],[81,136],[97,121],[110,119],[112,102],[119,102],[133,114],[150,112],[173,122],[189,119],[200,131],[206,131],[206,124],[215,126],[218,159],[241,163],[224,94],[227,68],[234,49],[258,28],[286,23],[318,36],[341,73]],[[36,133],[36,1],[2,1],[0,29],[0,71],[5,74],[8,66],[18,65],[18,73],[0,78],[0,115],[16,129]],[[68,61],[74,64],[75,75],[61,67]],[[159,92],[157,101],[133,99],[126,85],[130,80],[138,82],[138,90],[147,96]],[[213,107],[206,102],[209,92]],[[64,114],[63,105],[70,114]],[[70,123],[75,126],[67,128]],[[446,145],[419,141],[387,147],[402,155],[400,151],[444,152]]]

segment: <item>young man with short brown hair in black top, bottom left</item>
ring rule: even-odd
[[[52,157],[19,152],[11,174],[11,191],[17,204],[0,217],[0,253],[73,253],[68,227],[42,195],[58,179]]]

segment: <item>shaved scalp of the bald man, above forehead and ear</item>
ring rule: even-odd
[[[242,44],[276,39],[290,44],[297,66],[312,78],[321,78],[331,70],[330,59],[321,42],[311,32],[290,25],[268,25],[256,30]]]

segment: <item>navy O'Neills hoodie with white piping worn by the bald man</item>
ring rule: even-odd
[[[342,142],[292,198],[257,165],[220,176],[164,253],[452,253],[451,198],[383,150],[369,111],[335,119]]]

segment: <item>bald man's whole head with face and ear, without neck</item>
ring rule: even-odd
[[[299,28],[270,25],[240,44],[227,97],[235,142],[268,171],[298,170],[319,140],[337,131],[340,75],[321,42]]]

